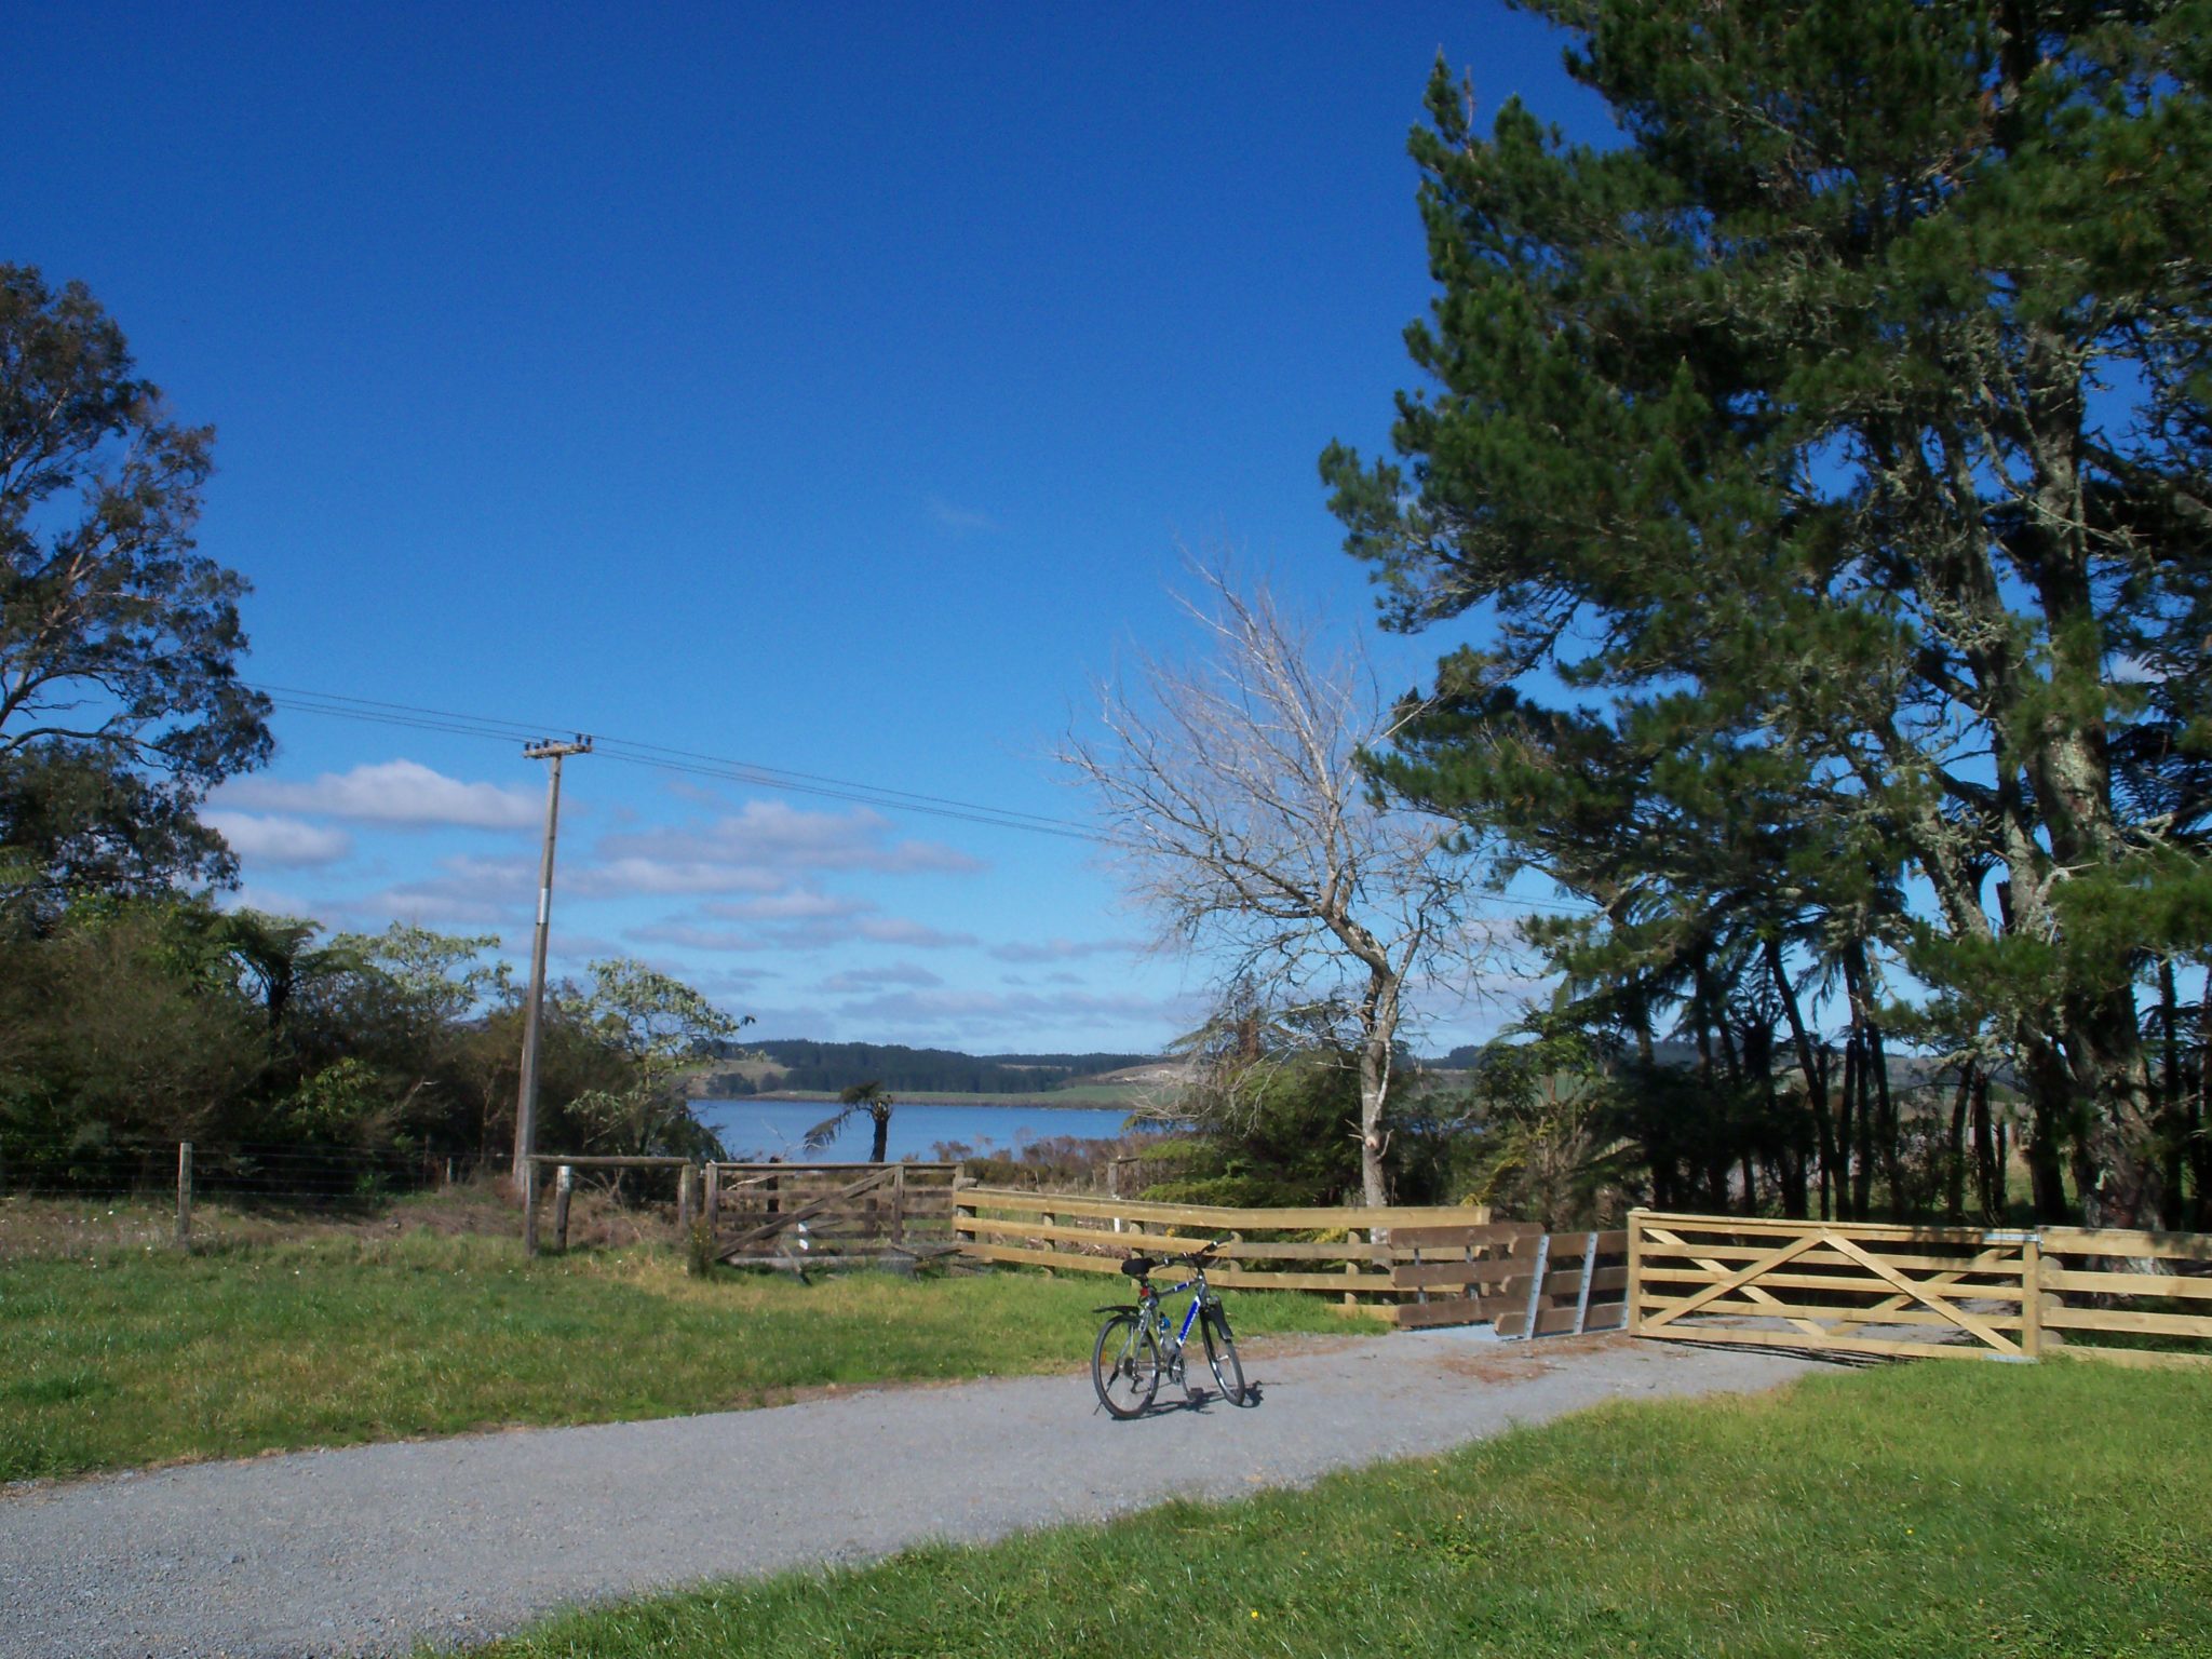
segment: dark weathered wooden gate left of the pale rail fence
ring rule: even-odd
[[[708,1164],[703,1217],[717,1259],[739,1265],[938,1254],[951,1250],[958,1172],[958,1164]]]

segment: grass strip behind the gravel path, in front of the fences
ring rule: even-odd
[[[0,1480],[177,1458],[615,1422],[794,1389],[1075,1369],[1119,1281],[719,1272],[661,1248],[332,1234],[0,1265]],[[1343,1332],[1232,1294],[1239,1329]]]

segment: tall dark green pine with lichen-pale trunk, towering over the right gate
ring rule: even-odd
[[[1825,823],[1816,887],[1918,876],[1911,971],[2073,1133],[2088,1217],[2154,1221],[2137,989],[2212,931],[2212,7],[1535,9],[1626,144],[1517,102],[1482,137],[1438,66],[1429,387],[1398,462],[1323,456],[1352,551],[1398,626],[1491,619],[1462,721],[1564,688],[1639,796]],[[1586,807],[1526,730],[1400,781]]]

